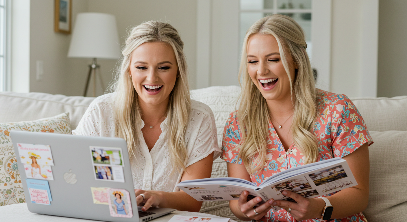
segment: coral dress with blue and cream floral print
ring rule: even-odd
[[[362,116],[348,97],[319,90],[318,106],[320,115],[315,122],[313,134],[318,141],[319,161],[344,157],[365,143],[368,143],[368,145],[373,143]],[[264,165],[265,167],[250,175],[252,182],[256,185],[278,172],[304,165],[304,156],[300,149],[291,144],[286,152],[271,122],[269,122],[268,130],[269,140],[267,141],[267,162]],[[230,114],[223,132],[221,148],[221,158],[223,160],[229,163],[243,164],[238,157],[239,149],[233,150],[239,144],[241,136],[241,128],[235,111]],[[297,220],[286,210],[280,209],[277,212],[270,210],[260,221],[296,222]],[[303,220],[303,222],[315,221],[322,220]],[[347,218],[328,221],[366,222],[367,220],[362,213],[357,213]]]

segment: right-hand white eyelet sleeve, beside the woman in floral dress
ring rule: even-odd
[[[195,102],[195,101],[194,101]],[[200,110],[193,110],[190,118],[190,128],[198,129],[197,136],[192,145],[185,167],[198,162],[213,152],[213,159],[219,157],[221,150],[218,146],[218,136],[215,125],[215,117],[209,106],[199,104]],[[203,118],[202,118],[203,117]],[[201,119],[202,118],[202,119]],[[196,121],[200,120],[200,123]],[[191,127],[192,126],[192,127]]]

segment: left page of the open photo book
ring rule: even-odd
[[[177,187],[198,201],[239,200],[240,194],[245,190],[249,191],[249,199],[259,196],[255,189],[238,185],[230,185],[228,183],[199,186],[179,186],[178,184]]]

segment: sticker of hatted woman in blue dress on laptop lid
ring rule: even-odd
[[[130,194],[125,189],[107,189],[109,194],[110,216],[118,218],[132,218]]]

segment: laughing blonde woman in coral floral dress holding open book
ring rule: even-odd
[[[249,28],[239,71],[241,102],[225,125],[221,157],[230,177],[257,185],[286,169],[344,158],[358,185],[324,196],[333,206],[328,219],[366,221],[361,211],[368,205],[373,141],[348,97],[315,88],[306,47],[304,32],[288,16],[271,15]],[[230,209],[245,221],[322,221],[324,199],[282,194],[296,202],[269,200],[256,207],[261,198],[247,200],[243,191]],[[272,205],[282,209],[274,212]]]

